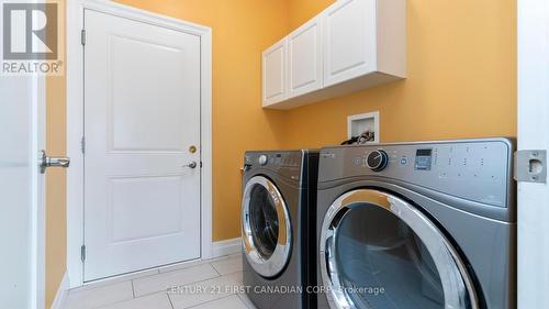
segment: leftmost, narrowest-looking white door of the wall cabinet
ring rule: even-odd
[[[285,37],[262,54],[264,107],[287,98],[285,91]]]

